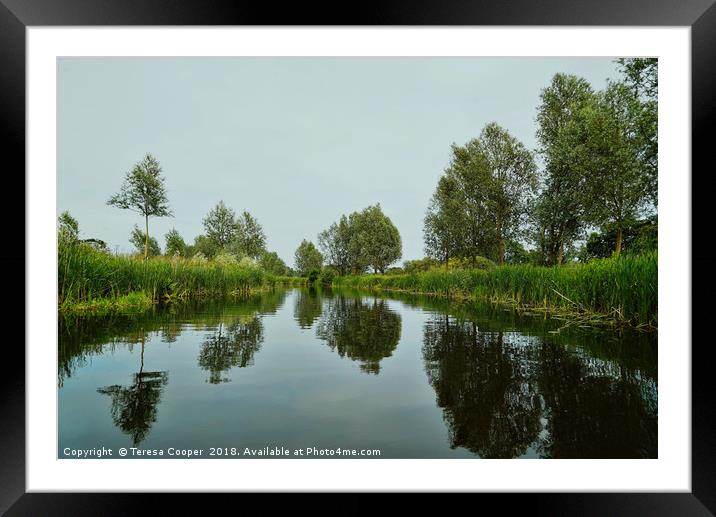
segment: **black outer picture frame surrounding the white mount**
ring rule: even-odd
[[[24,213],[25,192],[25,28],[27,26],[87,25],[569,25],[569,26],[689,26],[692,52],[692,235],[708,232],[707,183],[713,165],[709,129],[716,115],[715,0],[458,0],[446,2],[360,2],[343,5],[200,0],[0,0],[0,148],[7,188],[20,206],[6,207],[6,220]],[[7,158],[11,158],[8,161]],[[12,163],[13,166],[9,164]],[[702,171],[703,169],[703,171]],[[695,174],[699,171],[699,174]],[[688,176],[685,175],[685,181]],[[695,187],[695,188],[694,188]],[[699,199],[699,196],[701,198]],[[8,196],[10,197],[10,196]],[[712,202],[711,202],[712,203]],[[14,215],[12,215],[14,214]],[[13,225],[9,225],[13,226]],[[8,241],[25,242],[24,225],[6,230]],[[15,234],[13,235],[12,232]],[[710,240],[710,239],[709,239]],[[692,241],[693,242],[693,241]],[[692,247],[692,275],[714,264],[710,246]],[[26,270],[25,247],[3,247],[5,271]],[[11,268],[11,269],[10,269]],[[13,275],[11,275],[13,276]],[[14,293],[24,293],[25,278],[14,275]],[[708,289],[708,275],[700,290]],[[24,295],[23,295],[24,299]],[[14,302],[17,300],[15,299]],[[24,303],[22,304],[24,311]],[[708,321],[708,304],[692,303],[692,321]],[[691,331],[693,332],[693,328]],[[690,333],[689,333],[690,334]],[[689,335],[687,334],[687,335]],[[695,336],[694,336],[695,337]],[[0,376],[0,512],[7,515],[127,515],[149,508],[147,494],[25,493],[25,354],[19,338],[6,335],[5,372]],[[692,339],[696,342],[696,339]],[[23,336],[24,342],[24,336]],[[691,343],[673,343],[690,346]],[[702,345],[702,346],[699,346]],[[692,347],[692,492],[648,494],[479,494],[510,508],[551,515],[714,515],[716,514],[716,405],[710,382],[708,340]],[[167,494],[161,505],[186,504],[184,495]],[[219,496],[228,498],[229,495]],[[243,494],[242,497],[246,497]],[[357,497],[357,496],[352,496]],[[420,498],[418,498],[419,500]],[[222,501],[212,501],[221,504]],[[422,503],[421,503],[422,504]],[[346,508],[345,503],[342,505]]]

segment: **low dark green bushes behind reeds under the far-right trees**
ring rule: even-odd
[[[641,254],[657,250],[659,226],[656,216],[628,221],[622,231],[622,253]],[[579,260],[587,262],[595,258],[611,257],[616,235],[617,227],[614,223],[608,223],[600,232],[592,233],[579,251]]]

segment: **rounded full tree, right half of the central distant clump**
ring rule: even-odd
[[[400,233],[392,221],[383,213],[380,204],[369,206],[349,218],[351,239],[349,252],[359,267],[372,267],[375,273],[384,273],[386,268],[402,255]]]

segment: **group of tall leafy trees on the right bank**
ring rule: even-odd
[[[559,265],[587,230],[601,230],[588,245],[613,236],[618,255],[625,231],[646,227],[641,217],[656,222],[657,60],[618,63],[623,79],[602,91],[553,77],[540,94],[535,152],[495,123],[453,144],[424,219],[428,257]],[[655,246],[655,237],[638,242]]]

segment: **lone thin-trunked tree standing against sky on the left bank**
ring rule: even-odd
[[[161,171],[156,158],[147,154],[127,173],[119,193],[107,201],[108,205],[144,216],[145,259],[149,256],[149,217],[172,216]]]

